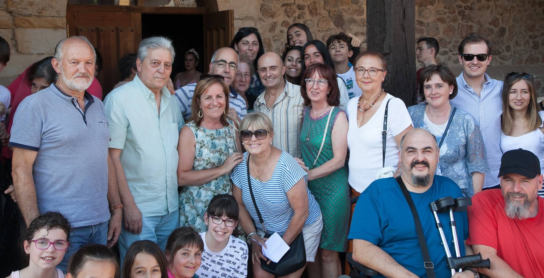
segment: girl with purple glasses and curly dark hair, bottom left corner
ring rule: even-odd
[[[58,212],[48,211],[32,222],[24,240],[24,252],[29,255],[28,267],[13,271],[11,278],[64,278],[63,271],[55,269],[68,248],[70,222]]]

